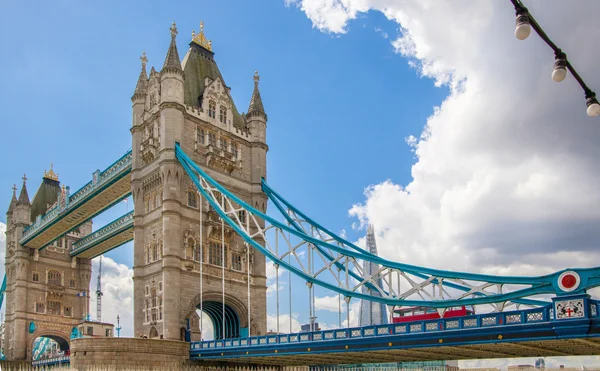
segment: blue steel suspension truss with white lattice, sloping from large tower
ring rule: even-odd
[[[495,311],[503,311],[513,303],[546,305],[547,302],[535,299],[540,295],[583,293],[600,286],[600,267],[563,270],[541,277],[494,276],[389,261],[320,226],[263,180],[263,191],[280,212],[279,217],[286,222],[266,215],[213,180],[178,144],[175,151],[202,196],[247,245],[304,279],[309,287],[319,285],[344,295],[347,301],[360,298],[391,306],[428,306],[439,308],[442,313],[453,306],[490,304]],[[302,248],[306,249],[308,264],[299,257]],[[317,267],[315,261],[319,263]],[[361,268],[364,261],[375,263],[381,269],[365,275]],[[565,274],[576,280],[576,284],[561,286]],[[341,278],[341,275],[345,277]],[[378,285],[380,279],[383,283]],[[380,295],[362,293],[364,286]]]

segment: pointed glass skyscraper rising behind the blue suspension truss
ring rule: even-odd
[[[375,242],[375,231],[373,225],[369,225],[367,229],[367,250],[371,254],[377,255],[377,243]],[[363,263],[365,276],[370,276],[379,271],[379,264],[365,261]],[[383,287],[381,276],[374,277],[374,283]],[[362,293],[371,296],[381,296],[379,291],[370,289],[366,286],[362,287]],[[360,300],[360,317],[359,326],[384,325],[388,323],[387,306],[383,303],[376,303],[368,300]]]

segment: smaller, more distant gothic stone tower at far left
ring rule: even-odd
[[[23,177],[18,199],[17,188],[13,188],[6,213],[6,320],[2,346],[10,360],[31,359],[33,342],[39,337],[51,338],[62,350],[69,349],[71,331],[86,315],[89,305],[89,295],[77,294],[88,292],[92,270],[89,260],[69,256],[72,244],[92,231],[91,221],[41,251],[19,244],[25,227],[66,196],[52,167],[44,174],[32,202],[25,181]]]

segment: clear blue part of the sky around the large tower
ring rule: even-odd
[[[252,74],[259,70],[269,115],[269,183],[351,238],[364,231],[352,231],[356,220],[348,210],[369,184],[409,180],[414,154],[405,138],[419,135],[432,107],[447,94],[394,53],[385,34],[396,27],[377,13],[337,37],[313,29],[299,9],[283,2],[6,7],[0,16],[0,44],[11,56],[0,61],[7,72],[0,92],[5,122],[0,145],[9,154],[0,180],[4,210],[23,173],[31,198],[51,162],[74,191],[130,148],[139,56],[145,51],[148,68],[162,67],[173,20],[181,57],[191,31],[204,20],[240,111],[247,109]],[[95,228],[127,207],[119,204],[96,218]],[[131,267],[132,246],[107,256]],[[337,322],[337,315],[323,316]]]

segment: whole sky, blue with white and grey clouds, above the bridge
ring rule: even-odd
[[[30,197],[51,162],[75,190],[128,150],[139,56],[160,69],[176,21],[183,57],[204,20],[240,111],[260,72],[268,182],[331,230],[355,240],[365,231],[352,224],[368,220],[384,231],[382,255],[448,269],[542,274],[598,261],[590,246],[600,235],[586,226],[600,221],[589,209],[600,202],[600,125],[585,117],[572,78],[550,80],[547,47],[516,41],[509,4],[341,3],[3,4],[0,209],[23,173]],[[600,36],[599,5],[529,6],[600,86],[600,52],[585,42]],[[405,138],[424,130],[417,157]],[[131,246],[107,255],[131,267]],[[337,322],[337,313],[319,316]]]

